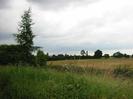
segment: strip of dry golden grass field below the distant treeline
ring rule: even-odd
[[[74,65],[82,67],[94,67],[98,69],[113,69],[116,66],[129,66],[133,68],[133,59],[129,58],[111,58],[111,59],[86,59],[86,60],[62,60],[62,61],[49,61],[49,65]]]

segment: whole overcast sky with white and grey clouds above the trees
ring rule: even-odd
[[[133,54],[133,0],[0,0],[0,44],[15,44],[12,34],[29,7],[34,44],[45,52]]]

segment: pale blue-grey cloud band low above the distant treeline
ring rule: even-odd
[[[127,49],[132,49],[131,43],[130,44],[116,44],[116,43],[111,43],[111,44],[106,44],[105,42],[99,42],[99,43],[80,43],[78,45],[71,45],[71,44],[59,44],[59,43],[53,43],[53,42],[39,42],[40,46],[43,47],[45,52],[51,52],[51,53],[69,53],[69,52],[74,52],[75,54],[80,53],[80,50],[88,50],[89,52],[92,51],[94,52],[97,49],[100,49],[102,51],[105,50],[122,50],[124,48]],[[37,45],[38,45],[37,44]]]

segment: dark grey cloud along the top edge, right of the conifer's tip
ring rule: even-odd
[[[44,9],[60,9],[70,4],[88,4],[99,0],[27,0],[30,3],[35,3]]]

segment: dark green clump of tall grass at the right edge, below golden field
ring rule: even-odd
[[[129,68],[129,66],[126,65],[117,66],[113,70],[113,73],[115,74],[115,76],[119,77],[133,77],[133,69]]]

